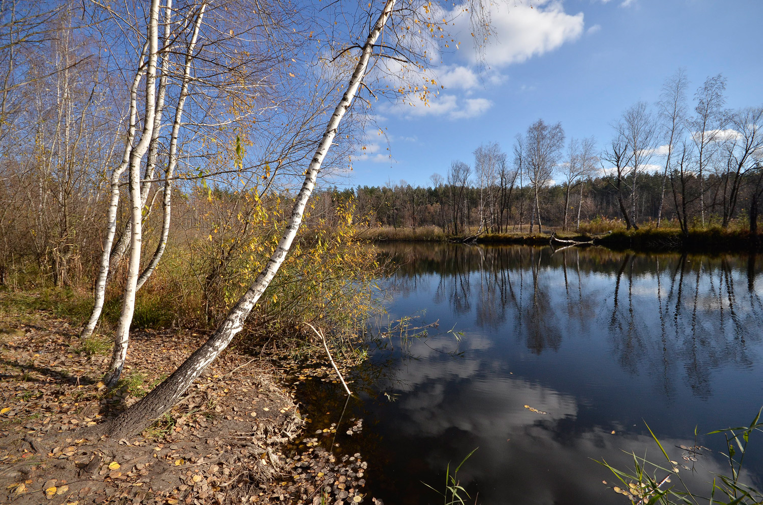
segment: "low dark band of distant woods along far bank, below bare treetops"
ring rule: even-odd
[[[759,171],[756,171],[759,172]],[[736,202],[731,204],[727,177],[710,175],[703,180],[709,198],[705,200],[706,226],[755,228],[760,207],[761,177],[750,173],[737,182],[739,189]],[[683,202],[682,195],[689,191],[698,192],[700,181],[695,177],[685,188],[674,188],[668,176],[666,195],[662,198],[663,175],[642,173],[637,175],[639,191],[635,204],[626,198],[626,212],[633,210],[629,220],[638,227],[642,224],[657,225],[662,203],[662,227],[680,227],[679,211],[675,209]],[[626,221],[620,208],[617,189],[617,175],[604,175],[572,186],[568,198],[568,184],[552,185],[539,193],[541,222],[544,227],[559,227],[577,230],[581,223],[592,220],[606,224],[611,220]],[[678,198],[673,198],[674,192]],[[582,194],[582,198],[580,195]],[[505,184],[479,188],[478,185],[439,184],[436,186],[412,186],[401,182],[398,185],[358,186],[354,189],[334,191],[335,198],[354,198],[356,218],[373,225],[387,227],[441,227],[446,233],[462,234],[476,232],[480,227],[486,233],[507,233],[511,231],[533,231],[536,219],[535,195],[530,185],[519,185],[519,180],[507,180]],[[630,197],[630,195],[628,195]],[[565,227],[565,207],[568,209],[568,226]],[[578,221],[578,207],[580,220]],[[724,219],[726,213],[726,219]],[[701,208],[699,198],[693,198],[686,205],[685,218],[688,228],[700,227]],[[575,219],[569,219],[572,216]],[[668,221],[667,223],[665,221]],[[537,230],[537,228],[535,228]]]

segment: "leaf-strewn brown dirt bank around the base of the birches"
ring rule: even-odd
[[[87,426],[137,401],[202,336],[136,332],[125,380],[107,391],[107,355],[81,352],[64,320],[40,312],[35,321],[0,321],[0,502],[372,501],[366,462],[321,447],[316,429],[333,427],[311,426],[282,372],[250,355],[226,352],[142,436],[87,439]]]

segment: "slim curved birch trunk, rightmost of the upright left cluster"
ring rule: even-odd
[[[172,175],[175,172],[175,164],[178,161],[178,137],[180,136],[180,124],[183,116],[183,108],[185,106],[185,98],[188,97],[188,83],[191,81],[191,63],[193,61],[193,52],[196,47],[196,40],[198,40],[198,31],[201,27],[201,20],[204,18],[204,9],[207,8],[206,4],[202,4],[199,9],[198,16],[196,17],[196,23],[194,26],[191,42],[188,43],[188,52],[185,54],[185,68],[183,69],[183,80],[180,88],[180,96],[178,98],[178,105],[175,108],[175,121],[172,123],[172,139],[169,143],[169,159],[167,160],[167,169],[165,172],[164,180],[164,195],[163,195],[163,216],[162,216],[162,235],[159,237],[159,245],[156,246],[156,251],[151,257],[151,261],[137,281],[136,289],[143,287],[148,278],[156,269],[156,265],[159,264],[159,260],[162,259],[164,249],[167,246],[167,236],[169,236],[169,220],[172,217]]]

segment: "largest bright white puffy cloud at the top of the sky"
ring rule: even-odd
[[[460,10],[456,7],[456,11]],[[540,0],[523,3],[511,8],[493,4],[490,7],[494,39],[485,48],[485,63],[488,66],[507,66],[522,63],[533,56],[540,56],[555,50],[565,42],[576,40],[583,33],[583,13],[575,15],[564,11],[562,2]],[[461,40],[473,40],[475,48],[484,43],[471,36],[468,16],[462,15],[456,21]],[[475,51],[467,51],[472,57]]]

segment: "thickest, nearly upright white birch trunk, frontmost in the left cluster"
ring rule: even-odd
[[[143,132],[140,142],[130,156],[130,221],[132,233],[130,234],[130,262],[127,268],[127,283],[124,286],[122,298],[122,310],[114,334],[114,352],[111,354],[111,363],[103,379],[109,387],[117,384],[127,357],[127,343],[130,336],[130,323],[133,320],[135,310],[136,284],[140,273],[140,243],[143,240],[143,200],[140,195],[140,160],[148,150],[153,137],[153,121],[156,114],[156,59],[159,53],[159,0],[152,0],[148,25],[149,58],[146,69],[146,113],[143,119]]]

